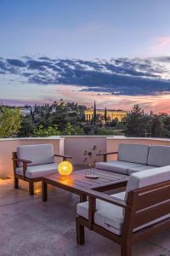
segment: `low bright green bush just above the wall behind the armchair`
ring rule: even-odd
[[[45,128],[43,125],[37,126],[37,128],[33,131],[34,137],[49,137],[49,136],[59,136],[59,130],[57,125],[48,126]]]

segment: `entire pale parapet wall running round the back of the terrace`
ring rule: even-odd
[[[102,152],[117,151],[120,143],[135,143],[149,145],[168,145],[170,139],[137,138],[137,137],[105,137],[105,136],[65,136],[65,137],[36,137],[0,139],[0,177],[13,175],[12,152],[20,145],[53,143],[56,154],[71,155],[74,165],[83,164],[84,150],[91,151],[97,146]],[[97,150],[98,151],[98,150]],[[116,155],[108,156],[115,160]],[[56,159],[59,162],[61,159]],[[102,160],[102,158],[97,159]]]

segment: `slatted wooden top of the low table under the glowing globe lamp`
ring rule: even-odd
[[[99,178],[89,178],[85,177],[87,171],[89,170],[85,169],[74,171],[68,177],[63,177],[57,172],[56,174],[43,177],[43,181],[58,187],[67,187],[77,190],[97,190],[102,188],[104,189],[105,187],[109,187],[114,184],[126,183],[128,179],[127,175],[122,175],[116,172],[107,172],[99,169],[97,170]]]

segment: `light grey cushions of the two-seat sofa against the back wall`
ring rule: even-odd
[[[133,172],[170,165],[170,146],[119,145],[117,160],[97,162],[96,168],[130,175]]]

